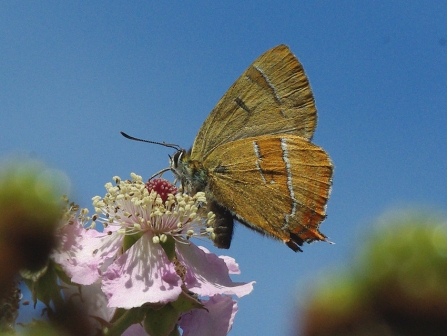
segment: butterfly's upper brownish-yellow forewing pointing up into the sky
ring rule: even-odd
[[[191,158],[203,160],[219,145],[265,134],[311,139],[315,126],[303,67],[279,45],[254,61],[220,99],[197,134]]]

